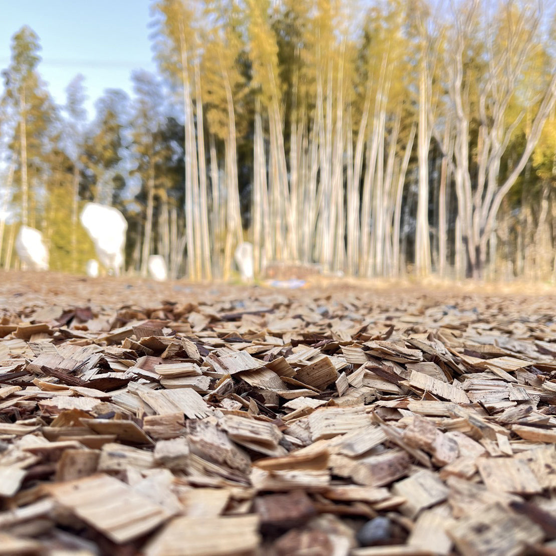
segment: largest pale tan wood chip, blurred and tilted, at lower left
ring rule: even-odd
[[[115,543],[126,543],[164,523],[170,514],[131,486],[99,474],[49,486],[59,504]]]

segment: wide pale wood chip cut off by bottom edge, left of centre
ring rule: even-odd
[[[259,544],[259,517],[239,515],[214,518],[177,517],[143,549],[145,556],[234,556]]]

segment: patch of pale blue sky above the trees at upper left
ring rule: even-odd
[[[0,68],[9,63],[11,37],[23,25],[39,36],[39,72],[54,100],[77,73],[85,76],[89,118],[106,88],[131,94],[133,69],[155,71],[149,0],[0,0]],[[3,84],[0,83],[0,87]]]

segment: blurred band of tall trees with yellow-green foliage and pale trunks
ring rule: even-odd
[[[77,76],[56,106],[12,38],[0,100],[0,265],[43,231],[53,269],[93,256],[83,202],[129,222],[126,266],[173,277],[315,263],[372,277],[556,279],[556,37],[540,3],[153,0],[158,75]],[[107,83],[107,85],[110,85]]]

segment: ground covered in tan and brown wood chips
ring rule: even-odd
[[[556,554],[556,296],[8,274],[0,554]]]

